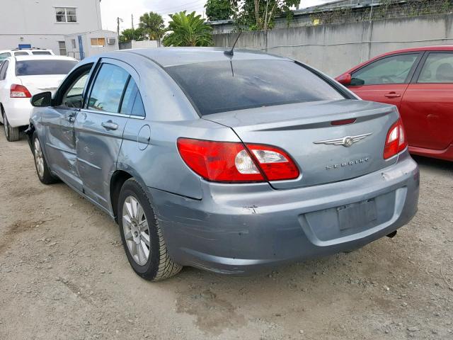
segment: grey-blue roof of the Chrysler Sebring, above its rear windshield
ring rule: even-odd
[[[165,48],[139,48],[120,50],[117,52],[134,53],[142,55],[162,67],[171,67],[183,64],[197,64],[200,62],[229,61],[231,57],[224,54],[229,47],[165,47]],[[116,53],[116,52],[113,52]],[[285,57],[268,55],[259,51],[234,50],[233,60],[289,60]]]

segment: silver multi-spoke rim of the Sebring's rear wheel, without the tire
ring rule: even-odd
[[[127,196],[122,204],[122,229],[132,259],[144,266],[151,251],[150,233],[142,205],[134,196]]]

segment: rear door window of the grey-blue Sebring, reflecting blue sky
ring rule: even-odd
[[[117,113],[129,74],[112,64],[103,64],[94,81],[88,108]]]

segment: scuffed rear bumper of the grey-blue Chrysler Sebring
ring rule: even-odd
[[[419,172],[404,152],[386,169],[321,186],[203,181],[202,188],[202,200],[149,188],[168,251],[184,266],[240,274],[356,249],[394,232],[417,211]],[[375,209],[355,210],[362,203]],[[363,222],[352,214],[345,223],[343,208],[361,211]]]

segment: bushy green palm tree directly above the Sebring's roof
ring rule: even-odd
[[[172,14],[168,23],[171,31],[164,37],[164,46],[211,46],[212,28],[205,24],[205,19],[196,16],[195,12],[188,15],[185,11]]]

